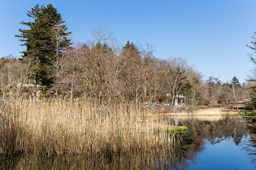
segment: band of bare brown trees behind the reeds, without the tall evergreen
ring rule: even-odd
[[[0,59],[1,94],[15,92],[17,97],[32,95],[37,65],[31,59],[5,57]],[[154,57],[154,49],[138,50],[127,42],[120,54],[108,45],[80,44],[65,50],[55,71],[48,91],[52,95],[93,97],[102,100],[160,101],[174,105],[175,98],[184,96],[186,105],[218,106],[228,101],[248,99],[250,83],[240,84],[234,77],[222,83],[210,77],[203,82],[195,68],[182,58],[169,60]],[[41,84],[43,86],[43,84]],[[43,87],[41,87],[43,88]],[[26,92],[26,93],[25,93]]]

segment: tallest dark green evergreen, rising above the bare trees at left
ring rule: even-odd
[[[39,62],[34,74],[35,84],[49,86],[52,79],[49,78],[59,54],[62,50],[70,45],[70,40],[67,36],[71,32],[67,32],[66,25],[61,19],[61,15],[51,4],[47,7],[36,5],[31,11],[28,11],[27,16],[34,19],[34,22],[22,22],[29,29],[19,29],[20,35],[15,35],[24,42],[26,50],[24,50],[22,58],[29,57]],[[60,28],[57,29],[56,28]]]

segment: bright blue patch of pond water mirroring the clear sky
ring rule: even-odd
[[[243,137],[241,142],[247,139]],[[238,147],[232,139],[225,139],[212,145],[206,142],[205,150],[197,158],[197,163],[192,163],[189,169],[253,169],[250,156]]]

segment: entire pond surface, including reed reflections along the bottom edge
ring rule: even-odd
[[[171,150],[127,154],[1,156],[0,169],[254,169],[255,122],[241,116],[162,117],[187,126]]]

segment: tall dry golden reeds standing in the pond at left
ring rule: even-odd
[[[171,147],[164,123],[144,122],[135,105],[57,100],[0,105],[1,154],[85,154]],[[153,125],[154,124],[154,125]]]

